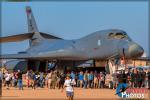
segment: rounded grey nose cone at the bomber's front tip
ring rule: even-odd
[[[129,46],[128,52],[132,57],[140,57],[144,53],[144,49],[138,44],[132,44]]]

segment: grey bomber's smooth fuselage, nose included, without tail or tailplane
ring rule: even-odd
[[[143,54],[143,48],[129,37],[123,39],[110,38],[109,33],[123,33],[121,30],[104,30],[94,32],[76,40],[45,39],[31,46],[27,53],[34,58],[58,60],[89,60],[121,57],[138,57]]]

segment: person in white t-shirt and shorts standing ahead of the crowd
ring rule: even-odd
[[[74,84],[73,81],[70,79],[69,76],[67,76],[63,89],[66,88],[66,96],[68,100],[73,100],[73,96],[74,96],[73,84]],[[63,92],[63,89],[62,89],[62,92]]]

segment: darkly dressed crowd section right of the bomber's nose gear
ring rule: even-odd
[[[150,71],[149,69],[129,69],[127,72],[113,74],[113,88],[119,83],[127,83],[130,88],[147,88],[150,89]]]

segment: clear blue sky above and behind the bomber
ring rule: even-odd
[[[148,53],[147,2],[3,2],[2,36],[27,32],[25,6],[31,6],[41,32],[77,39],[98,30],[122,29]],[[5,43],[2,53],[27,48],[28,41]]]

